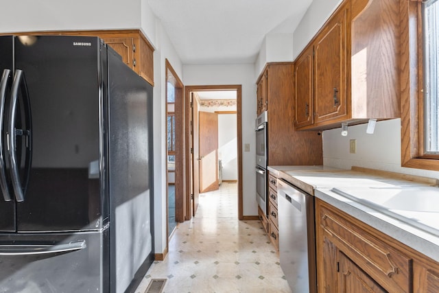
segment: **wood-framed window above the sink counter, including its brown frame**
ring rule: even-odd
[[[439,0],[400,3],[401,165],[439,171]]]

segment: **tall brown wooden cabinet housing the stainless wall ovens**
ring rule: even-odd
[[[293,62],[270,62],[257,80],[257,113],[268,113],[268,165],[321,165],[320,133],[294,130],[293,75]]]

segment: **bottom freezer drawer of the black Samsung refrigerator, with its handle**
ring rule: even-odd
[[[109,292],[108,229],[0,235],[0,259],[3,293]]]

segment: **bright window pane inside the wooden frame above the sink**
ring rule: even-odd
[[[423,3],[424,154],[439,154],[439,1]]]

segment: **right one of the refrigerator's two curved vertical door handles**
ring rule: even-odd
[[[25,111],[25,126],[27,130],[15,128],[16,104],[19,95],[19,87],[21,86],[23,94],[23,107]],[[30,167],[32,162],[32,117],[30,112],[29,95],[27,94],[27,86],[23,71],[16,69],[14,75],[14,82],[12,82],[11,101],[9,106],[9,141],[8,153],[10,160],[10,173],[12,180],[12,187],[14,188],[15,199],[17,202],[25,200],[25,190],[29,182]],[[16,136],[25,135],[26,138],[26,156],[25,156],[25,185],[21,185],[19,165],[16,160]]]

